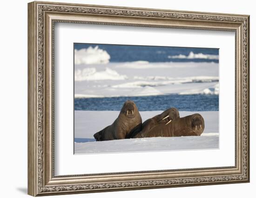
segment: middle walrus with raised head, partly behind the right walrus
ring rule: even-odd
[[[155,115],[152,118],[149,118],[148,120],[144,121],[142,123],[142,130],[140,133],[130,133],[128,138],[138,138],[142,137],[141,134],[147,134],[150,129],[154,128],[156,125],[161,123],[168,123],[170,121],[174,121],[176,119],[180,118],[180,114],[178,109],[176,108],[170,108],[162,112],[162,114]]]

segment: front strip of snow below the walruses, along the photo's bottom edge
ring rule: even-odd
[[[218,136],[153,137],[75,143],[75,154],[170,151],[217,148]],[[181,146],[186,146],[182,148]],[[121,150],[120,150],[121,149]]]

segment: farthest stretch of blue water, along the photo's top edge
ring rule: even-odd
[[[110,62],[131,62],[144,60],[148,62],[215,62],[214,59],[180,59],[168,58],[168,56],[185,55],[188,56],[192,51],[194,54],[218,55],[219,49],[216,48],[194,48],[194,47],[166,47],[166,46],[140,46],[140,45],[109,45],[109,44],[74,44],[74,49],[80,50],[89,46],[99,46],[110,55]]]

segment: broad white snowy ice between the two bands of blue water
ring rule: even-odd
[[[75,65],[75,97],[219,94],[218,63],[127,63]]]

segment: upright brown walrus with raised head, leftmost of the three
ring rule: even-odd
[[[129,133],[141,131],[142,120],[133,101],[126,101],[113,124],[94,134],[96,141],[125,139]]]

